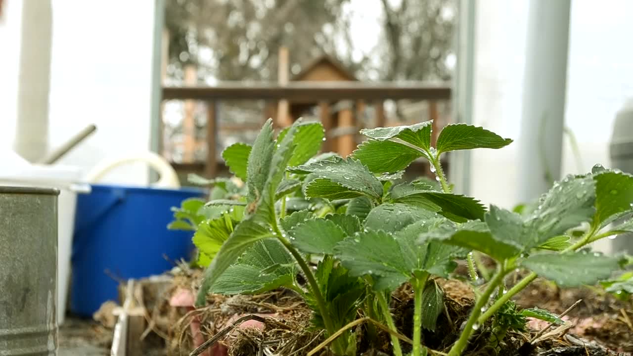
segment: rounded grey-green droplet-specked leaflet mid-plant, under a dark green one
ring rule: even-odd
[[[401,203],[381,204],[372,209],[365,219],[365,228],[395,232],[418,220],[437,217],[431,210]]]

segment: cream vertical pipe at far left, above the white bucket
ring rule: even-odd
[[[50,0],[23,0],[15,151],[30,162],[46,154],[53,15]]]

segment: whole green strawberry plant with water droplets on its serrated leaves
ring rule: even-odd
[[[510,298],[537,276],[561,286],[593,284],[611,276],[622,258],[591,253],[586,245],[624,231],[606,226],[631,213],[633,176],[594,167],[543,194],[537,206],[511,212],[453,193],[441,166],[444,153],[503,148],[511,143],[489,130],[448,125],[431,145],[430,122],[362,130],[368,137],[347,157],[318,155],[323,127],[299,120],[275,137],[270,120],[253,146],[234,144],[222,156],[245,183],[214,180],[211,200],[187,201],[172,227],[196,229],[197,264],[206,267],[197,305],[208,293],[261,293],[287,288],[313,310],[313,326],[332,336],[336,355],[355,355],[348,329],[359,314],[391,330],[393,352],[403,354],[390,311],[391,292],[410,283],[414,294],[413,355],[425,354],[422,329],[434,331],[444,301],[434,277],[450,277],[455,260],[472,252],[497,262],[449,355],[491,317],[489,343],[498,347],[525,317],[550,320],[539,310],[517,310]],[[435,182],[402,180],[418,158],[429,161]],[[582,232],[579,234],[578,232]],[[311,261],[318,260],[316,268]],[[513,270],[529,276],[504,291]],[[299,283],[298,274],[306,284]],[[477,288],[477,287],[475,287]],[[553,319],[552,319],[553,320]],[[340,329],[344,332],[337,333]]]

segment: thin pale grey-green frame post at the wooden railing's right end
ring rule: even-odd
[[[459,28],[456,35],[457,65],[453,84],[453,112],[456,122],[471,124],[475,70],[476,6],[474,0],[460,0]],[[470,152],[450,153],[449,178],[456,193],[470,194]]]

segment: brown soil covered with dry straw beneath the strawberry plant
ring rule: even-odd
[[[235,322],[237,317],[249,314],[264,317],[264,322],[255,321],[253,325],[259,324],[256,327],[244,327],[245,324],[241,324],[241,327],[230,327],[227,329],[226,336],[213,346],[215,352],[230,356],[272,354],[299,356],[305,355],[325,340],[322,331],[311,328],[310,309],[292,291],[279,290],[255,296],[213,295],[208,298],[207,307],[196,310],[170,307],[168,302],[170,296],[178,288],[195,290],[199,277],[199,273],[190,271],[188,274],[176,276],[172,279],[170,286],[163,286],[158,291],[147,285],[144,286],[142,298],[149,312],[149,321],[153,321],[151,323],[153,331],[147,336],[147,342],[153,340],[150,342],[154,346],[153,349],[161,348],[162,352],[153,353],[154,355],[188,355],[194,350],[190,329],[190,324],[194,319],[200,323],[201,339],[210,340],[215,334]],[[519,277],[521,276],[516,278]],[[506,281],[511,284],[514,278],[510,276]],[[458,279],[437,279],[437,282],[444,290],[446,310],[439,316],[434,333],[424,331],[423,342],[432,350],[448,352],[472,308],[474,294],[470,284]],[[598,293],[597,289],[591,288],[558,289],[547,281],[537,279],[517,295],[515,302],[520,307],[546,308],[551,312],[561,314],[580,299],[582,302],[563,317],[565,321],[570,322],[570,327],[556,333],[553,333],[555,327],[552,327],[548,331],[551,335],[536,345],[530,345],[527,341],[545,327],[546,322],[530,319],[528,331],[508,333],[498,350],[487,348],[490,328],[489,325],[483,325],[480,326],[479,333],[473,336],[464,355],[633,355],[633,326],[630,324],[630,320],[633,319],[633,301],[620,302],[610,295]],[[404,336],[411,338],[413,292],[410,286],[405,284],[393,294],[391,307],[396,326]],[[90,322],[83,324],[80,329],[84,330],[84,336],[75,334],[72,327],[61,331],[60,355],[108,354],[111,329],[104,329],[103,326]],[[388,335],[378,331],[377,336],[370,338],[368,335],[373,330],[375,329],[367,324],[356,327],[358,354],[391,355]],[[158,337],[158,334],[166,341]],[[81,338],[91,340],[89,345],[85,346],[77,341]],[[68,345],[84,348],[80,352],[64,353],[64,347]],[[401,345],[404,352],[411,350],[411,346],[407,343],[403,342]],[[326,356],[328,353],[322,351],[317,355]]]

